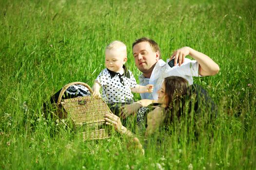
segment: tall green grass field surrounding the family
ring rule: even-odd
[[[255,170],[255,16],[255,0],[0,0],[0,169]],[[219,65],[194,79],[219,108],[197,140],[181,125],[142,156],[118,134],[83,142],[66,122],[43,118],[42,103],[63,85],[93,85],[113,40],[127,45],[138,80],[131,46],[142,36],[164,60],[189,46]]]

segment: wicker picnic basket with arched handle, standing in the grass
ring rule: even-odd
[[[66,89],[71,85],[84,85],[92,93],[89,85],[73,82],[65,85],[60,91],[57,102],[57,116],[59,119],[70,117],[75,127],[83,127],[83,140],[104,139],[110,137],[110,128],[105,124],[105,114],[111,113],[108,105],[102,99],[91,96],[76,97],[61,100]]]

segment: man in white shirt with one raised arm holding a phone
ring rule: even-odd
[[[183,47],[173,53],[168,64],[160,58],[158,44],[149,38],[143,37],[133,43],[133,55],[137,68],[142,72],[139,76],[139,85],[154,85],[153,93],[141,94],[141,99],[157,100],[157,91],[161,82],[168,76],[180,76],[193,84],[193,76],[215,75],[219,71],[218,65],[207,55],[190,47]],[[185,58],[190,55],[195,60]],[[174,67],[169,63],[174,58]],[[135,103],[136,104],[136,103]],[[121,117],[135,112],[136,107],[124,107]]]

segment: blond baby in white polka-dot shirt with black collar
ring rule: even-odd
[[[120,41],[111,42],[105,50],[106,68],[99,73],[93,85],[93,97],[100,97],[99,89],[102,87],[102,98],[110,104],[112,112],[117,112],[120,105],[132,104],[132,92],[153,92],[153,85],[137,85],[132,72],[124,66],[126,61],[125,44]]]

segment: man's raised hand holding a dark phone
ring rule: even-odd
[[[190,47],[182,47],[181,49],[178,49],[177,51],[174,51],[173,55],[170,57],[172,60],[174,57],[174,66],[178,64],[180,66],[185,61],[185,57],[189,55],[190,53]]]

